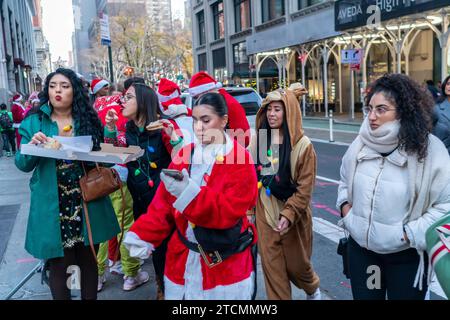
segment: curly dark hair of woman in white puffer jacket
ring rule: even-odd
[[[408,154],[417,153],[422,161],[427,156],[428,135],[432,128],[434,99],[431,93],[403,74],[387,74],[376,80],[370,86],[366,105],[377,93],[382,93],[397,107],[400,146]]]

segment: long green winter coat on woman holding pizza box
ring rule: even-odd
[[[33,114],[23,120],[19,129],[22,144],[29,143],[33,135],[39,131],[48,137],[58,135],[58,126],[50,118],[51,108],[43,105],[41,111],[42,116]],[[75,124],[75,133],[77,131],[78,127]],[[37,259],[63,257],[56,160],[22,155],[20,152],[17,152],[15,160],[19,170],[24,172],[34,170],[30,180],[31,204],[25,249]],[[110,240],[120,232],[109,197],[89,202],[88,209],[94,244]],[[82,219],[85,245],[88,246],[84,214]]]

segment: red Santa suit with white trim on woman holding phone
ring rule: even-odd
[[[246,218],[246,211],[255,205],[257,196],[250,154],[227,136],[225,145],[184,147],[169,168],[187,169],[188,163],[192,163],[189,183],[178,198],[161,183],[147,214],[127,233],[124,243],[131,256],[148,258],[175,227],[187,240],[197,243],[193,231],[196,226],[228,229],[241,220],[241,231],[253,229],[254,243],[257,240],[254,227]],[[250,248],[209,268],[201,255],[189,250],[178,232],[173,232],[166,256],[166,299],[251,299],[255,270]]]

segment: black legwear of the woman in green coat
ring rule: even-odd
[[[96,252],[98,245],[95,246]],[[69,277],[78,277],[81,287],[82,300],[97,300],[98,269],[97,260],[94,258],[91,248],[83,244],[77,244],[72,249],[64,249],[64,257],[48,260],[49,286],[54,300],[71,300]],[[79,269],[78,269],[79,268]],[[79,275],[76,270],[79,270]],[[75,272],[75,273],[74,273]],[[72,286],[72,289],[77,289]]]

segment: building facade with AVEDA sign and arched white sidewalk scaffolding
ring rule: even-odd
[[[196,71],[261,93],[301,81],[309,90],[303,105],[316,112],[333,108],[354,117],[367,84],[386,72],[420,82],[448,73],[448,0],[193,0],[192,6]],[[361,61],[342,63],[345,49],[363,52]]]

